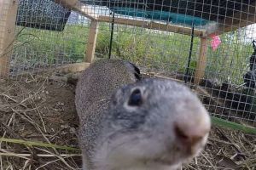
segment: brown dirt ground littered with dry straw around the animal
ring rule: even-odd
[[[31,75],[0,81],[1,170],[81,168],[79,150],[29,143],[79,148],[74,85]],[[212,127],[206,149],[183,169],[254,170],[256,136]]]

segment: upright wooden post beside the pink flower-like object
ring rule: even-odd
[[[195,69],[195,85],[199,85],[202,78],[205,75],[205,70],[207,67],[207,37],[201,37],[201,47],[199,59],[197,60],[197,65]]]

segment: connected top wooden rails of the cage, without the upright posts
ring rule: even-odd
[[[90,20],[99,20],[102,22],[112,22],[112,17],[110,16],[98,16],[94,10],[90,9],[88,5],[80,3],[79,0],[55,0],[56,3],[60,3],[62,6],[73,9]],[[207,37],[207,35],[219,35],[228,31],[235,31],[238,28],[249,26],[256,23],[256,2],[248,5],[248,8],[244,8],[241,11],[236,11],[233,16],[225,17],[224,20],[218,21],[217,31],[207,31],[195,30],[195,37]],[[132,20],[126,18],[116,18],[114,23],[128,26],[138,26],[148,29],[160,30],[160,31],[170,31],[180,34],[190,35],[191,28],[176,26],[176,25],[166,25],[156,23],[154,21],[144,21],[144,20]]]

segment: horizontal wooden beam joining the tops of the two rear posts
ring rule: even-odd
[[[108,22],[112,23],[113,19],[110,16],[98,16],[98,21],[101,22]],[[146,20],[132,20],[127,18],[119,18],[116,17],[113,21],[115,24],[120,25],[126,25],[126,26],[137,26],[137,27],[143,27],[153,30],[160,30],[160,31],[169,31],[169,32],[175,32],[185,35],[191,35],[191,28],[190,27],[184,27],[184,26],[176,26],[176,25],[170,25],[170,24],[161,24],[154,21],[146,21]],[[195,37],[206,37],[206,32],[202,30],[196,30],[195,29]]]

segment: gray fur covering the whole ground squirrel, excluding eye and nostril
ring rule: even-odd
[[[197,96],[170,80],[137,81],[137,74],[136,65],[103,59],[79,78],[76,106],[84,170],[174,170],[206,144],[210,119]],[[142,105],[128,105],[135,89]],[[181,144],[176,124],[201,140],[193,148]]]

